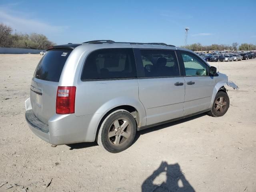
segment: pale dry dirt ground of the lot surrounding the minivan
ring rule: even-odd
[[[111,154],[96,143],[52,148],[29,130],[24,101],[40,58],[0,54],[0,192],[256,191],[256,59],[210,62],[240,87],[227,87],[224,116],[140,131]]]

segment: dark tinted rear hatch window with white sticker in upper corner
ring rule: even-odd
[[[34,78],[59,82],[64,64],[72,50],[47,51],[36,68]]]

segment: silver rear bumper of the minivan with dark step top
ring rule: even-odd
[[[48,125],[40,121],[32,109],[26,110],[26,121],[30,130],[42,140],[52,145],[94,142],[96,129],[89,132],[91,116],[75,116],[74,114],[56,114],[48,120]]]

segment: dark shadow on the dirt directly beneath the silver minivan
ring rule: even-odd
[[[167,127],[170,127],[170,126],[174,126],[176,124],[180,124],[180,123],[187,122],[187,121],[190,121],[190,120],[193,120],[193,119],[196,119],[196,118],[200,118],[200,117],[205,116],[205,115],[206,115],[206,113],[202,113],[202,114],[198,114],[198,115],[195,115],[195,116],[192,116],[192,117],[184,118],[182,120],[178,120],[178,121],[174,121],[174,122],[170,122],[170,123],[166,123],[166,124],[162,124],[162,125],[158,125],[158,126],[154,126],[154,127],[151,127],[151,128],[147,128],[147,129],[138,131],[136,133],[136,136],[135,136],[134,141],[133,141],[132,144],[134,144],[138,140],[140,135],[147,134],[147,133],[150,133],[152,131],[164,129],[164,128],[167,128]],[[84,143],[68,144],[67,146],[70,147],[69,150],[73,150],[73,149],[89,148],[89,147],[93,147],[93,146],[97,146],[97,145],[98,145],[97,142],[84,142]]]

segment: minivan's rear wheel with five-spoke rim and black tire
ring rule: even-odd
[[[110,113],[102,122],[97,143],[111,153],[118,153],[131,146],[137,124],[128,111],[120,109]]]

